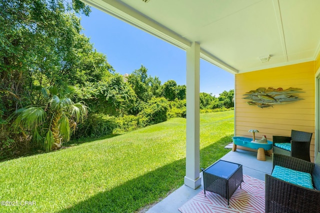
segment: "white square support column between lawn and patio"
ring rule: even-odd
[[[186,50],[186,165],[184,184],[201,185],[200,175],[200,45]]]

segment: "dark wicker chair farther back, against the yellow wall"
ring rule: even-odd
[[[291,130],[291,137],[273,136],[273,153],[291,156],[310,162],[312,133]],[[274,143],[291,143],[291,152],[274,146]]]

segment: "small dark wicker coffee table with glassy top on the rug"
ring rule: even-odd
[[[219,160],[203,171],[204,196],[205,191],[213,192],[227,200],[243,182],[242,165]]]

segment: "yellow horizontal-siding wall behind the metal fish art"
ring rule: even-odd
[[[249,129],[257,129],[256,138],[266,135],[272,141],[273,135],[290,136],[291,129],[312,132],[310,145],[311,161],[314,160],[314,73],[318,65],[314,61],[276,67],[235,75],[235,136],[252,137]],[[304,93],[299,100],[289,104],[273,105],[268,108],[251,106],[243,94],[259,87],[300,88]]]

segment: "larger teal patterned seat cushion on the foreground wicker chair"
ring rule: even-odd
[[[312,177],[309,173],[274,166],[271,176],[291,184],[313,189]]]

